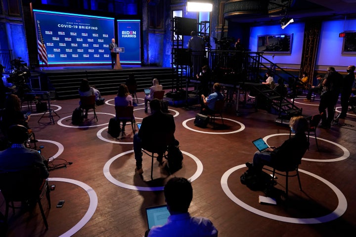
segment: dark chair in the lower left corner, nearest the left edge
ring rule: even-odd
[[[50,208],[50,190],[48,181],[41,178],[40,175],[40,168],[38,167],[18,171],[0,171],[0,190],[6,204],[6,221],[9,207],[12,208],[13,214],[15,214],[15,208],[21,208],[21,206],[15,206],[14,202],[27,203],[28,201],[36,201],[40,207],[45,228],[46,230],[48,229],[41,199],[46,196],[48,207]]]

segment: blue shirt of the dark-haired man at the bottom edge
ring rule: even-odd
[[[217,237],[218,230],[204,217],[191,217],[190,214],[170,215],[164,226],[154,226],[148,237]]]

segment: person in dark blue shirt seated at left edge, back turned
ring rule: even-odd
[[[23,125],[12,125],[8,128],[8,141],[11,147],[0,152],[0,170],[1,171],[16,171],[39,167],[42,178],[47,178],[49,173],[45,166],[41,154],[33,149],[24,146],[28,139],[28,129]]]

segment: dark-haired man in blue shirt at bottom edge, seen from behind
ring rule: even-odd
[[[185,178],[170,179],[164,195],[171,215],[164,226],[154,226],[148,237],[217,237],[218,230],[204,217],[191,217],[188,208],[193,198],[193,189]]]

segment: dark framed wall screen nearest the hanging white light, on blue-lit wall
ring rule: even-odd
[[[258,36],[257,50],[265,53],[291,53],[293,34]]]

